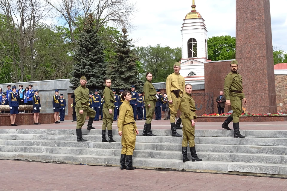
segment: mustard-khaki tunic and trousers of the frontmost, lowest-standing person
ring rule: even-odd
[[[117,121],[119,131],[122,131],[122,151],[121,154],[132,155],[135,150],[136,129],[134,112],[128,101],[123,101],[120,106],[120,115]]]

